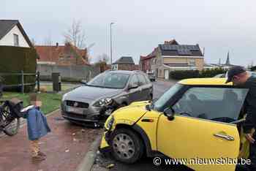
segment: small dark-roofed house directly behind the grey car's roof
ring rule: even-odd
[[[132,71],[135,70],[135,62],[132,56],[122,56],[112,64],[112,69]]]

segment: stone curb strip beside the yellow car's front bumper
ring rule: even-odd
[[[100,134],[98,137],[96,137],[96,140],[92,142],[89,151],[86,153],[86,156],[83,158],[83,161],[80,162],[75,171],[91,171],[91,168],[97,156],[96,153],[99,147],[101,137],[102,135]]]

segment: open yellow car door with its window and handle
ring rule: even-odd
[[[225,161],[236,159],[239,153],[238,129],[230,122],[238,119],[247,91],[241,88],[189,88],[172,106],[176,113],[173,121],[163,114],[159,116],[157,151],[172,159],[181,159],[193,170],[235,170],[236,164]],[[207,105],[200,106],[197,99],[207,101]],[[234,107],[236,111],[225,110]]]

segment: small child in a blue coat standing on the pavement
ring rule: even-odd
[[[39,149],[39,139],[48,134],[50,128],[45,115],[39,110],[42,102],[39,100],[37,94],[31,94],[29,99],[33,107],[28,110],[25,118],[27,120],[28,135],[31,142],[31,159],[33,162],[39,162],[46,159],[45,153],[42,153]]]

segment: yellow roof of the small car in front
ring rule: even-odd
[[[197,86],[233,86],[233,83],[225,83],[225,77],[207,77],[207,78],[190,78],[180,80],[178,83],[183,85],[197,85]]]

